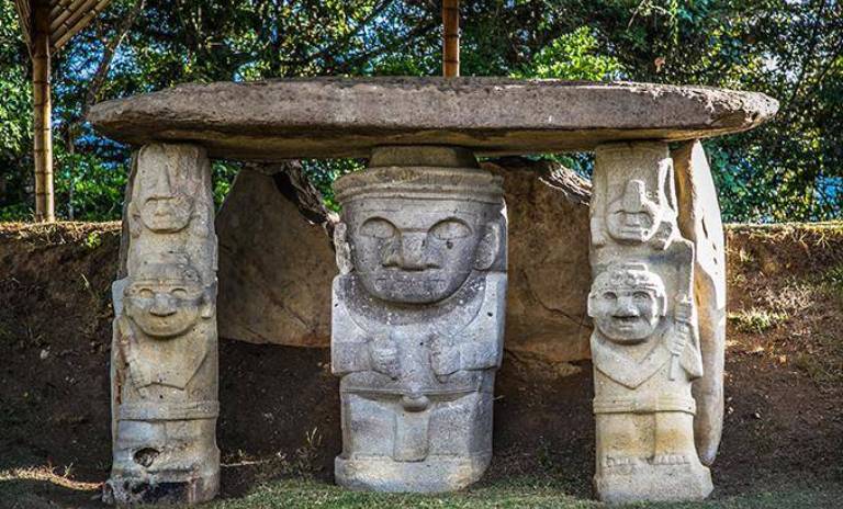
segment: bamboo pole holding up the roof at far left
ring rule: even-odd
[[[35,220],[55,222],[49,88],[49,2],[36,0],[32,36],[32,106],[35,158]]]

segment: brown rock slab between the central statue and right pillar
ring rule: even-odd
[[[559,367],[588,359],[589,183],[548,161],[506,158],[483,168],[504,178],[507,352]]]

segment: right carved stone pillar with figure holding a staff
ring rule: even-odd
[[[664,143],[597,147],[588,315],[594,318],[595,487],[609,502],[705,498],[692,382],[702,376],[694,246],[677,226]]]

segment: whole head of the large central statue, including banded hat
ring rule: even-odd
[[[475,169],[385,172],[369,170],[338,186],[349,265],[367,292],[389,302],[434,303],[457,292],[472,271],[499,262],[498,178]]]

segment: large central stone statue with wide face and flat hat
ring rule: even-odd
[[[335,189],[337,483],[465,487],[492,459],[506,302],[502,179],[468,150],[390,147]]]

